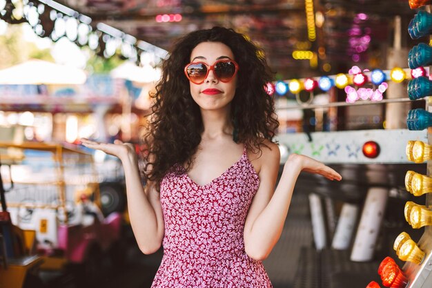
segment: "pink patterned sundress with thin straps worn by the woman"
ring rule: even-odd
[[[244,251],[244,222],[258,185],[246,148],[204,186],[175,165],[161,180],[164,257],[152,288],[273,287],[262,262]]]

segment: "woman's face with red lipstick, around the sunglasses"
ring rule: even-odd
[[[204,62],[211,66],[217,60],[235,60],[233,51],[221,42],[202,42],[198,44],[190,54],[190,63]],[[190,83],[190,94],[202,110],[218,110],[229,108],[235,95],[237,75],[228,82],[219,81],[213,70],[202,84]]]

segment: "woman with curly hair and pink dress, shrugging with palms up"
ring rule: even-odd
[[[144,138],[146,186],[130,144],[82,140],[119,157],[141,251],[164,247],[153,288],[272,287],[262,265],[275,246],[301,171],[341,180],[290,155],[279,184],[271,77],[246,37],[215,27],[180,39],[164,62]]]

